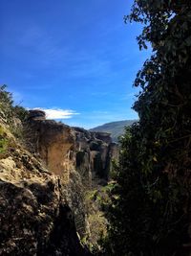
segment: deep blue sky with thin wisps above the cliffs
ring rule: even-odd
[[[16,104],[71,126],[136,119],[132,86],[149,52],[130,0],[1,0],[0,84]]]

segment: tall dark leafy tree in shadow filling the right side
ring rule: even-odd
[[[139,122],[121,138],[104,255],[188,255],[191,201],[191,3],[135,0],[143,25]]]

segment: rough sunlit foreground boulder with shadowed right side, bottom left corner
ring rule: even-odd
[[[0,160],[0,255],[90,255],[79,243],[60,177],[28,151]]]

